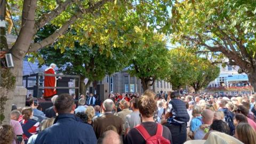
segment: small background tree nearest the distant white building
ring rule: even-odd
[[[220,68],[213,65],[209,60],[205,58],[198,58],[199,61],[196,64],[194,71],[196,73],[196,80],[189,84],[195,89],[195,93],[198,93],[200,89],[205,88],[217,78],[220,74]]]

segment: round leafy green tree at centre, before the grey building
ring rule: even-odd
[[[149,89],[157,79],[165,79],[168,71],[167,53],[163,36],[155,34],[134,50],[129,73],[141,79],[142,89]]]

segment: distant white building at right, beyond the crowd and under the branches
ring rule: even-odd
[[[238,66],[220,67],[220,75],[206,88],[212,94],[246,94],[252,93],[252,87],[246,74],[238,74]]]

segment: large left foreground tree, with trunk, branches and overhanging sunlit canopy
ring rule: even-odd
[[[14,62],[14,68],[11,69],[10,75],[12,74],[17,79],[14,87],[15,85],[22,85],[22,73],[19,72],[23,69],[22,60],[25,55],[53,43],[57,43],[64,51],[69,42],[58,43],[58,41],[63,37],[72,36],[69,33],[69,29],[72,27],[78,30],[83,29],[78,36],[74,37],[79,39],[81,44],[89,41],[90,37],[89,46],[98,44],[101,51],[106,49],[108,50],[107,53],[110,54],[112,47],[131,46],[130,42],[134,41],[131,34],[135,34],[135,31],[126,31],[127,27],[137,25],[143,29],[156,29],[158,26],[157,30],[164,33],[171,25],[168,21],[167,6],[171,6],[172,2],[164,0],[150,2],[133,0],[50,0],[47,2],[44,0],[25,0],[10,1],[10,3],[17,9],[20,8],[18,14],[13,16],[21,19],[18,38],[10,50]],[[37,32],[50,23],[58,26],[58,29],[42,41],[35,42],[34,38]],[[101,27],[104,29],[100,29]],[[119,33],[118,30],[123,30],[123,33]],[[8,123],[14,90],[9,91],[6,95],[8,95],[6,102],[8,107],[5,108],[4,115],[7,118],[5,123]]]

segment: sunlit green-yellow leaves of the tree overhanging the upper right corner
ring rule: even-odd
[[[175,9],[178,11],[179,19],[177,23],[173,23],[178,28],[172,34],[172,43],[178,42],[184,46],[196,47],[201,50],[202,48],[207,49],[202,43],[210,46],[223,45],[228,50],[231,50],[231,47],[227,45],[233,45],[239,57],[247,61],[248,58],[245,58],[245,55],[239,54],[245,47],[250,57],[254,58],[254,47],[256,46],[255,7],[256,1],[253,0],[207,0],[176,3]],[[185,39],[184,36],[200,38],[202,42],[193,42]],[[226,42],[227,39],[230,42]],[[244,47],[237,45],[238,43]]]

